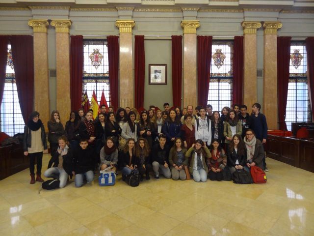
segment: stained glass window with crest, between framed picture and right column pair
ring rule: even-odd
[[[231,106],[234,42],[213,40],[211,46],[208,104],[213,111]]]

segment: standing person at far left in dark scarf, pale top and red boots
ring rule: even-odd
[[[48,153],[48,147],[44,124],[36,111],[30,114],[24,127],[23,150],[24,155],[29,157],[30,184],[35,183],[35,159],[37,160],[36,181],[43,182],[41,178],[43,153]]]

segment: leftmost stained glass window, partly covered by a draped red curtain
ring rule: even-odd
[[[8,45],[8,57],[5,71],[5,84],[1,102],[0,131],[13,136],[24,132],[24,120],[15,83],[11,45]]]

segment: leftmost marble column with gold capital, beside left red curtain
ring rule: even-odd
[[[45,124],[50,119],[49,76],[48,76],[48,20],[29,20],[28,26],[33,28],[34,42],[34,110],[40,113]]]

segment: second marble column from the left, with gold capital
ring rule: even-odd
[[[52,20],[51,25],[55,27],[56,42],[56,107],[60,118],[65,124],[71,111],[70,96],[70,20]],[[83,68],[82,68],[83,69]]]

